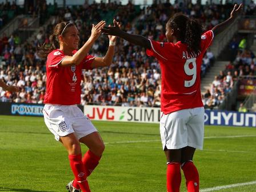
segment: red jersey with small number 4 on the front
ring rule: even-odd
[[[73,51],[75,54],[77,50]],[[46,94],[44,103],[57,105],[75,105],[81,103],[81,78],[82,69],[91,69],[94,61],[92,55],[87,55],[76,66],[59,65],[66,57],[63,51],[57,49],[51,51],[46,62]]]

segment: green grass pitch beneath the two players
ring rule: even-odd
[[[157,124],[93,123],[106,149],[88,178],[91,191],[166,191]],[[256,191],[255,127],[206,126],[204,150],[196,151],[194,163],[202,191],[246,182],[254,183],[219,191]],[[39,117],[0,116],[0,171],[0,191],[63,192],[73,179],[66,150]],[[183,176],[181,191],[186,191]]]

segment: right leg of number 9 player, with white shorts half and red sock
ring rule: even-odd
[[[191,118],[187,122],[188,146],[182,149],[182,170],[186,178],[187,191],[199,191],[199,174],[193,163],[195,149],[202,149],[204,134],[203,107],[190,109]]]

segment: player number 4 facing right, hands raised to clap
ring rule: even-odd
[[[119,25],[119,23],[116,23]],[[86,178],[101,159],[104,143],[97,129],[78,108],[81,102],[82,69],[109,66],[112,62],[115,40],[109,35],[109,49],[105,57],[93,57],[89,50],[101,35],[105,21],[93,25],[90,38],[78,50],[79,33],[73,23],[61,22],[50,36],[51,46],[39,46],[41,57],[46,61],[46,95],[43,115],[48,129],[62,142],[69,154],[69,162],[75,179],[68,183],[67,190],[90,191]],[[89,150],[82,158],[80,143]]]

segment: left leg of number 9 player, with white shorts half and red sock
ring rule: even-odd
[[[181,149],[187,146],[186,110],[163,114],[160,133],[167,159],[166,186],[169,192],[178,192],[181,186]]]

